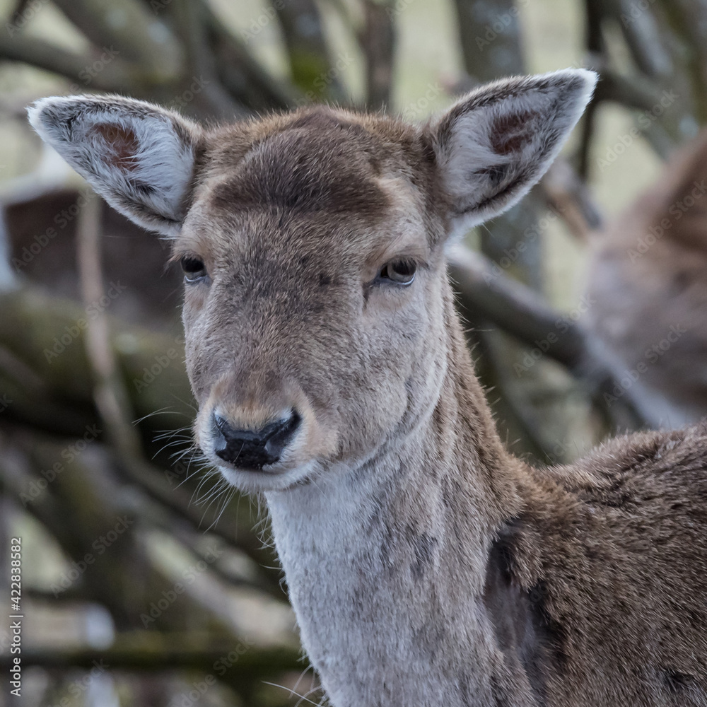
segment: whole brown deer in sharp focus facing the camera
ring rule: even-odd
[[[194,439],[264,497],[335,707],[707,706],[707,426],[568,466],[503,445],[450,239],[542,176],[597,76],[500,79],[407,124],[301,107],[206,129],[44,98],[42,139],[185,276]]]

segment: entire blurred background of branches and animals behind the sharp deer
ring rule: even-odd
[[[0,607],[21,538],[21,698],[320,703],[262,506],[195,458],[181,274],[29,129],[114,92],[207,123],[318,102],[424,121],[587,66],[597,94],[520,206],[452,253],[510,448],[570,462],[707,411],[704,0],[1,0]],[[14,641],[14,643],[13,643]]]

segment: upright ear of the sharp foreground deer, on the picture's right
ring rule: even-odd
[[[454,230],[497,216],[549,168],[592,98],[597,74],[566,69],[482,86],[431,126]]]

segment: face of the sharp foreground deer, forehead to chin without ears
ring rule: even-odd
[[[174,243],[197,440],[237,483],[255,469],[289,484],[366,457],[439,385],[443,357],[426,345],[443,336],[433,165],[415,184],[399,144],[329,111],[235,159],[222,144],[211,139],[218,167]]]

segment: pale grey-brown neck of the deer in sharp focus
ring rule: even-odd
[[[414,430],[267,493],[303,645],[337,707],[491,703],[482,597],[494,531],[520,508],[519,462],[455,318],[447,332],[438,401]]]

